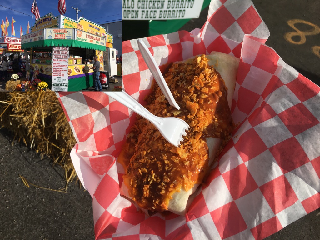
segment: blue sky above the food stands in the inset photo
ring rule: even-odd
[[[0,1],[0,24],[6,17],[9,20],[8,36],[11,36],[11,21],[12,17],[16,21],[13,26],[15,36],[20,37],[20,25],[22,26],[23,34],[27,33],[28,21],[30,28],[35,23],[35,16],[31,12],[33,0],[14,0],[14,1]],[[58,16],[58,0],[37,0],[40,16],[52,13]],[[78,18],[84,17],[97,24],[110,23],[119,21],[122,18],[122,2],[121,0],[66,0],[67,12],[64,16],[76,20],[76,10],[78,8]],[[32,18],[33,16],[33,18]],[[32,21],[32,23],[31,23]],[[0,29],[1,31],[1,29]]]

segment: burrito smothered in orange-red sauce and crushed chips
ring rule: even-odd
[[[239,59],[212,52],[169,66],[165,80],[180,110],[169,105],[156,84],[145,107],[156,116],[181,118],[190,129],[177,148],[137,116],[118,157],[125,170],[122,196],[148,215],[188,211],[234,129],[230,108],[238,65]]]

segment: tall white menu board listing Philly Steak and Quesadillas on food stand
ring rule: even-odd
[[[68,47],[52,49],[52,91],[68,92]]]

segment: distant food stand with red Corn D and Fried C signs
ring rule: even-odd
[[[21,38],[4,36],[0,38],[0,54],[7,56],[9,64],[12,63],[13,56],[24,55],[24,51],[21,49]],[[26,59],[22,57],[21,71],[25,71]],[[11,65],[8,68],[8,74],[12,73]]]

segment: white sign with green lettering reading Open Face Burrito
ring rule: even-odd
[[[204,0],[123,0],[123,20],[199,18]]]

